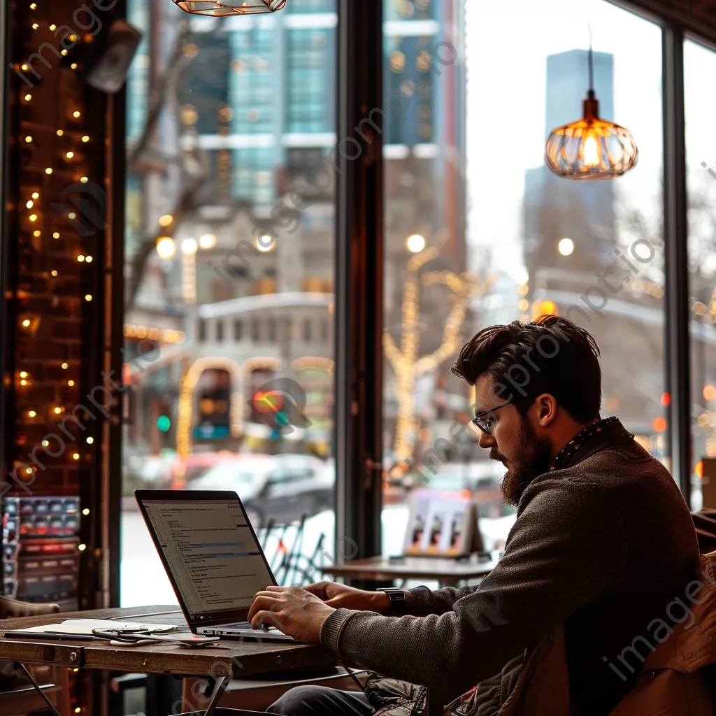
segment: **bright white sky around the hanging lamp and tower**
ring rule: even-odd
[[[523,276],[521,202],[525,170],[544,155],[546,58],[589,48],[614,55],[614,117],[639,147],[639,163],[614,180],[628,203],[659,213],[662,168],[662,37],[656,24],[605,0],[467,0],[468,243],[491,246],[493,269]],[[684,50],[687,153],[716,170],[716,53]],[[588,78],[584,78],[584,92]],[[574,117],[575,120],[579,117]],[[692,166],[692,169],[694,167]],[[473,251],[480,268],[480,251]]]

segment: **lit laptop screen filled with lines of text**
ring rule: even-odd
[[[234,500],[142,500],[190,614],[248,609],[273,583]]]

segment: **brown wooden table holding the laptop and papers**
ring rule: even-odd
[[[143,606],[132,609],[97,609],[47,616],[24,616],[0,621],[0,662],[54,664],[69,669],[109,669],[180,677],[213,677],[218,685],[205,708],[216,708],[232,678],[284,672],[298,667],[332,666],[336,657],[319,644],[286,644],[223,641],[218,647],[188,649],[158,643],[139,647],[110,647],[107,642],[6,639],[4,632],[64,619],[119,619],[154,624],[186,624],[176,606]],[[207,699],[208,701],[208,699]],[[182,708],[182,710],[184,710]],[[193,705],[187,710],[193,710]],[[64,715],[63,715],[64,716]]]

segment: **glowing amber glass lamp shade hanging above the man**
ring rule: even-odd
[[[584,119],[552,130],[545,153],[548,168],[565,179],[614,179],[638,158],[631,132],[599,118],[593,90],[584,100]]]

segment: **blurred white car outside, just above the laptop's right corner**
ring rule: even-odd
[[[235,490],[254,528],[298,520],[333,508],[335,468],[312,455],[241,458],[190,480],[188,490]]]

